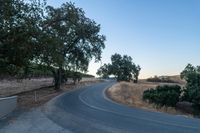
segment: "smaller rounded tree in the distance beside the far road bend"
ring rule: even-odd
[[[140,70],[141,67],[136,65],[130,56],[121,56],[116,53],[111,56],[111,64],[108,63],[101,66],[97,71],[97,75],[103,78],[113,75],[117,81],[132,80],[134,83],[137,83]]]

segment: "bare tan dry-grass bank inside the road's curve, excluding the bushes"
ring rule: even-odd
[[[120,82],[109,88],[106,93],[112,100],[126,104],[128,106],[141,108],[149,111],[165,112],[177,115],[189,115],[176,110],[173,107],[158,107],[155,104],[150,104],[143,101],[143,92],[149,88],[155,88],[161,83],[139,82],[138,84],[129,82]],[[190,115],[189,115],[190,116]]]

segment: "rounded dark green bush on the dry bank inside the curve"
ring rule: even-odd
[[[172,106],[175,107],[179,101],[181,94],[181,87],[178,85],[157,86],[156,89],[149,89],[144,91],[143,99],[148,100],[150,103],[155,103],[159,106]]]

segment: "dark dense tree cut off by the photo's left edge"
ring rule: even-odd
[[[36,55],[41,3],[36,0],[0,1],[0,73],[26,72]]]

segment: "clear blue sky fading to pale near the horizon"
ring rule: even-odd
[[[58,7],[68,0],[48,0]],[[68,1],[69,2],[69,1]],[[72,0],[106,35],[102,63],[114,53],[131,56],[140,78],[177,75],[187,63],[200,65],[200,0]],[[89,73],[99,64],[93,61]]]

